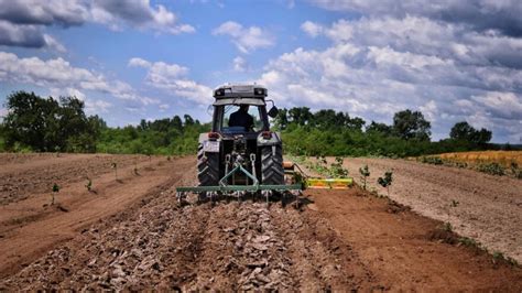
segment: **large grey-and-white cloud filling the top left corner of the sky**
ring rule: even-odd
[[[45,33],[45,26],[101,23],[112,30],[127,26],[170,34],[193,33],[189,24],[164,6],[149,0],[0,0],[0,45],[52,48],[65,47]]]

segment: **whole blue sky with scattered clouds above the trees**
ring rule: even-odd
[[[0,0],[0,116],[15,90],[109,126],[188,113],[258,83],[279,108],[459,121],[522,143],[520,0]]]

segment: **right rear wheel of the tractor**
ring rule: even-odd
[[[284,184],[283,148],[281,144],[261,149],[261,175],[262,184]]]

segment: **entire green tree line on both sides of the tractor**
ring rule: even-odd
[[[195,153],[198,134],[210,130],[210,123],[188,115],[110,128],[100,117],[87,116],[84,101],[75,97],[26,91],[9,95],[6,107],[0,151],[187,154]],[[304,155],[409,156],[494,146],[488,143],[491,131],[465,121],[450,129],[448,139],[432,142],[431,122],[409,109],[385,124],[331,109],[294,107],[281,109],[273,124],[285,151]]]

